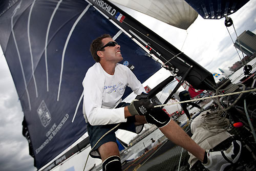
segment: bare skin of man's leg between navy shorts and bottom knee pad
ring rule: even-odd
[[[119,156],[119,150],[116,142],[106,142],[98,148],[102,162],[110,156]]]

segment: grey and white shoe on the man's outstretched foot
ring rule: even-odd
[[[236,163],[241,154],[241,142],[233,141],[226,151],[208,152],[205,168],[210,171],[223,171],[227,166]]]

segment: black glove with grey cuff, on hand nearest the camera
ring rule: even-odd
[[[139,95],[140,96],[140,95]],[[147,115],[151,109],[154,108],[154,104],[147,98],[140,100],[135,99],[130,105],[127,106],[132,116],[134,115]]]

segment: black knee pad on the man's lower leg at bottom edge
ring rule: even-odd
[[[103,171],[122,171],[121,160],[119,156],[111,156],[105,159],[102,163],[102,170]]]

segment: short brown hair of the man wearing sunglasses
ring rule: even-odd
[[[94,39],[93,42],[91,43],[90,52],[93,56],[93,59],[96,62],[100,61],[100,57],[97,55],[97,52],[103,47],[102,39],[107,37],[112,38],[109,34],[103,34],[100,37],[97,37],[96,39]],[[103,49],[102,51],[104,50],[105,49]]]

